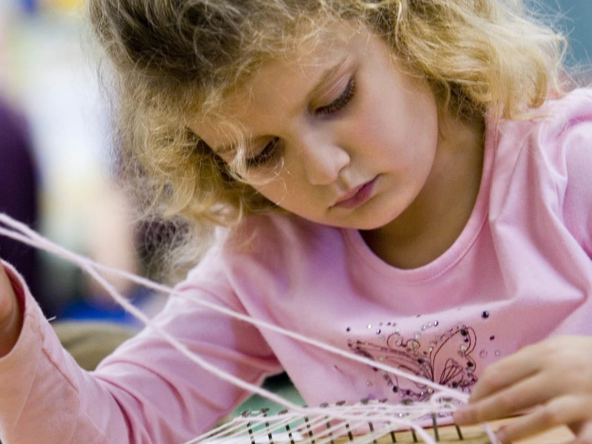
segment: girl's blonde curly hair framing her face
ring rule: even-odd
[[[529,14],[520,0],[89,0],[115,67],[122,162],[184,233],[275,210],[188,129],[266,60],[346,20],[423,73],[440,106],[519,118],[561,93],[564,37]]]

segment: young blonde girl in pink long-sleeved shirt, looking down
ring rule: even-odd
[[[457,423],[526,410],[503,442],[592,442],[592,92],[567,92],[559,35],[518,0],[90,12],[141,195],[226,227],[157,326],[243,380],[287,371],[311,406],[432,393],[206,300],[472,393]],[[150,328],[82,371],[4,268],[3,441],[183,442],[247,396]]]

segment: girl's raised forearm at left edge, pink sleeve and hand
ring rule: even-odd
[[[0,441],[126,442],[115,398],[63,350],[26,284],[5,262],[0,312]]]

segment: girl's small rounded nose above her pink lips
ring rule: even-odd
[[[313,185],[332,184],[350,162],[348,151],[318,134],[303,137],[300,148],[300,162],[308,182]]]

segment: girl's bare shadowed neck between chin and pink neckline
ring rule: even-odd
[[[398,268],[417,268],[452,246],[477,200],[484,131],[481,118],[443,116],[432,170],[420,194],[394,221],[361,233],[378,257]]]

